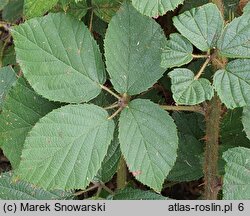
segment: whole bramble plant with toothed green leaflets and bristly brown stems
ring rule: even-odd
[[[0,198],[249,199],[249,8],[1,1]]]

